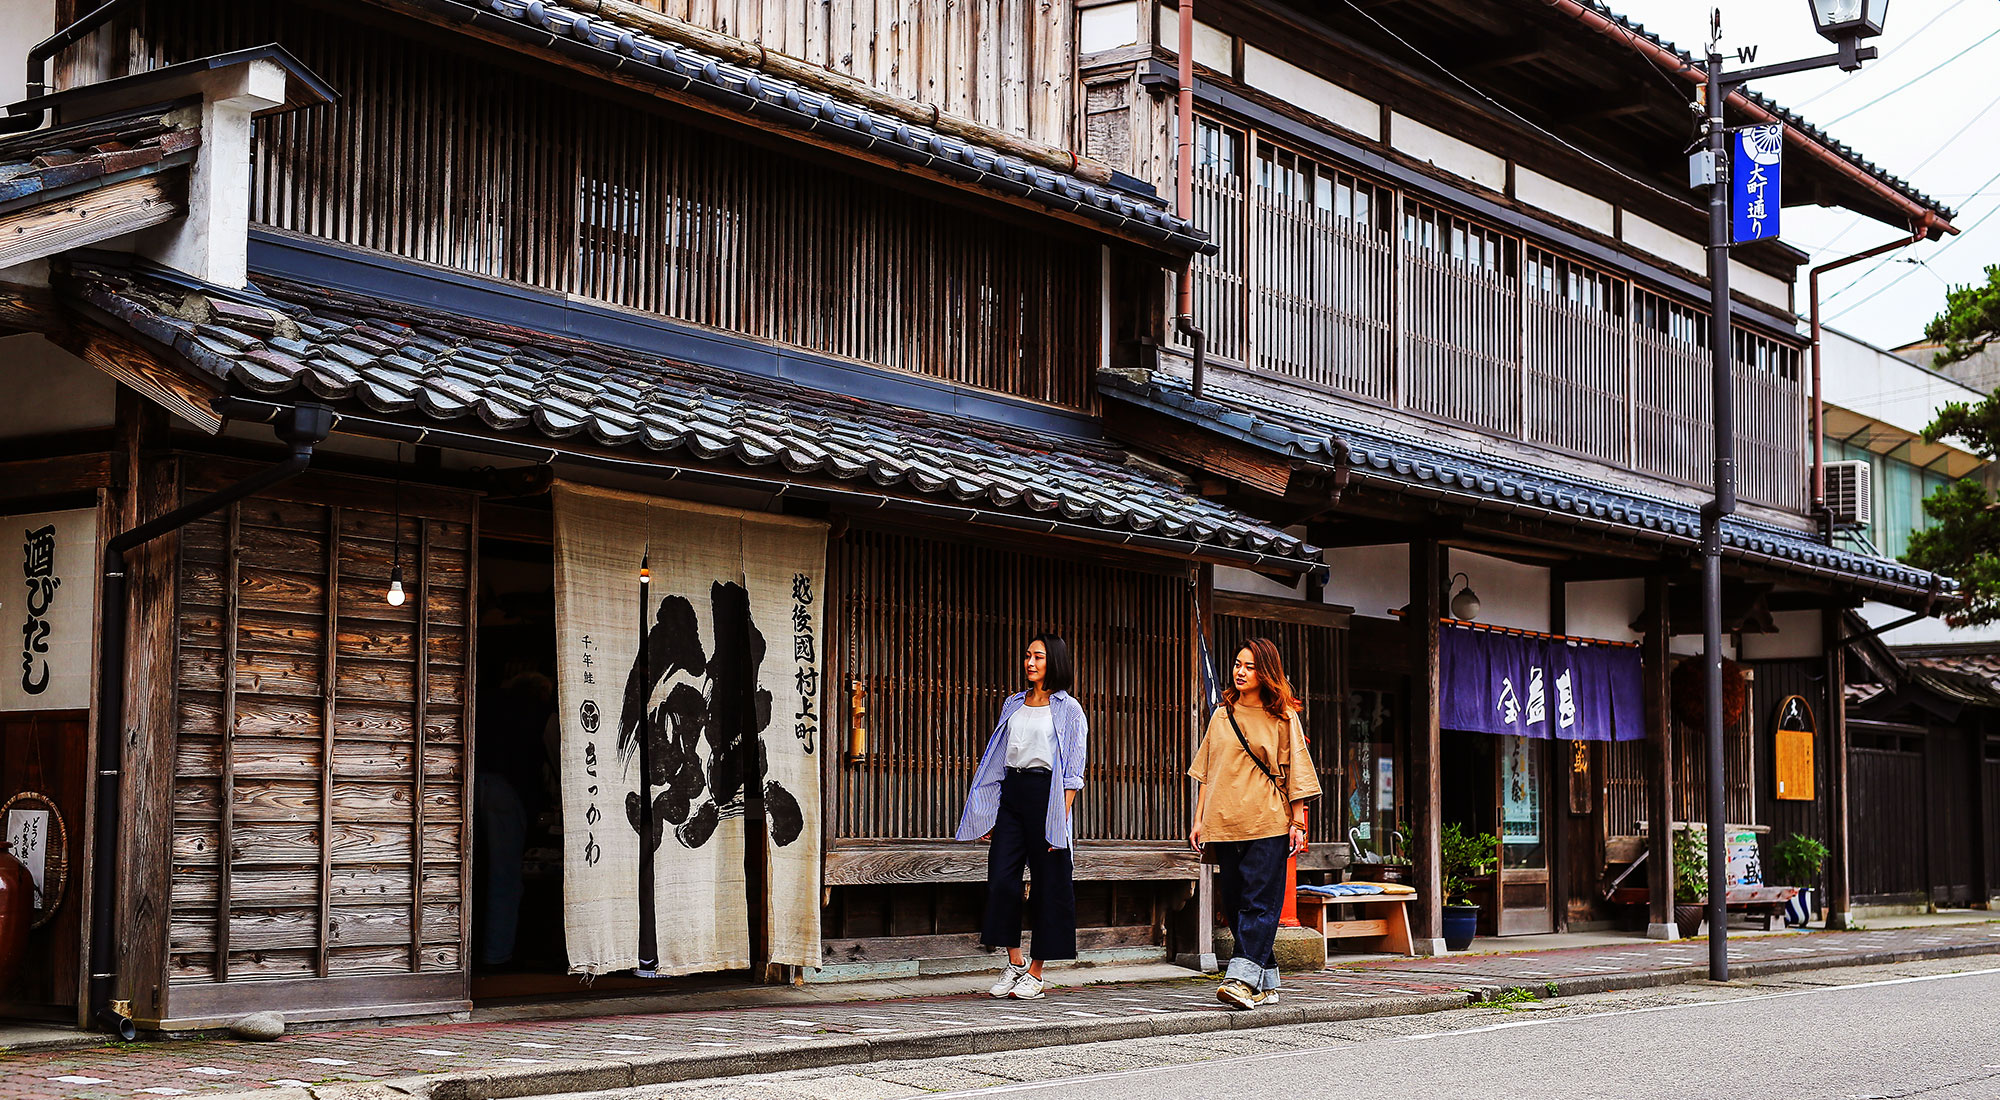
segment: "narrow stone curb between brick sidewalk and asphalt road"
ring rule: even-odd
[[[1868,952],[1838,958],[1782,958],[1736,962],[1732,976],[1764,978],[1800,970],[1830,970],[1844,966],[1890,966],[1938,958],[2000,954],[2000,944],[1952,944],[1940,948]],[[458,1070],[376,1082],[340,1082],[310,1088],[260,1088],[210,1096],[206,1100],[516,1100],[522,1096],[560,1096],[652,1084],[676,1084],[706,1078],[776,1074],[788,1070],[824,1070],[830,1066],[866,1066],[870,1062],[906,1062],[920,1058],[952,1058],[964,1054],[1000,1054],[1042,1046],[1072,1046],[1084,1042],[1114,1042],[1126,1038],[1186,1036],[1248,1028],[1282,1028],[1292,1024],[1340,1024],[1388,1016],[1420,1016],[1446,1012],[1502,998],[1506,990],[1522,988],[1536,998],[1566,998],[1618,990],[1680,986],[1708,978],[1706,968],[1682,966],[1646,974],[1606,974],[1590,978],[1556,978],[1534,984],[1468,986],[1448,994],[1384,996],[1340,1004],[1286,1004],[1254,1012],[1162,1012],[1154,1016],[1114,1016],[1102,1020],[1072,1020],[1062,1024],[1004,1024],[990,1028],[944,1028],[910,1036],[838,1036],[808,1044],[754,1046],[744,1050],[712,1050],[700,1054],[660,1054],[616,1062],[550,1062],[540,1066],[508,1066]],[[1554,994],[1548,992],[1554,986]]]

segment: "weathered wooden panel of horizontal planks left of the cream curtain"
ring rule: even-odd
[[[186,492],[230,478],[208,462]],[[408,496],[400,608],[384,486],[182,532],[176,984],[464,966],[472,524]]]

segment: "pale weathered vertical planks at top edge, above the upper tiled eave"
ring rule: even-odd
[[[638,0],[892,96],[1070,148],[1074,0]]]

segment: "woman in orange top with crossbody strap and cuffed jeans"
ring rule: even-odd
[[[1188,768],[1200,784],[1188,844],[1196,852],[1208,844],[1216,856],[1218,900],[1236,934],[1236,956],[1216,988],[1230,1008],[1278,1000],[1284,864],[1306,850],[1306,800],[1320,794],[1300,710],[1278,646],[1250,638]]]

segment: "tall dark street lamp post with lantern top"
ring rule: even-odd
[[[1808,0],[1812,24],[1838,52],[1796,62],[1764,64],[1722,72],[1722,16],[1712,16],[1714,34],[1708,42],[1706,64],[1706,170],[1696,170],[1708,182],[1708,350],[1710,364],[1710,408],[1714,408],[1716,466],[1714,498],[1702,506],[1702,672],[1706,696],[1706,758],[1708,758],[1708,976],[1726,982],[1730,976],[1728,954],[1728,848],[1726,848],[1726,800],[1724,800],[1724,746],[1722,746],[1722,520],[1736,512],[1736,386],[1734,386],[1734,328],[1730,324],[1730,132],[1724,120],[1724,106],[1740,84],[1788,72],[1840,66],[1856,70],[1876,56],[1874,46],[1862,46],[1862,38],[1882,34],[1882,18],[1888,0]],[[1754,56],[1754,54],[1752,54]],[[1846,852],[1840,854],[1846,858]]]

